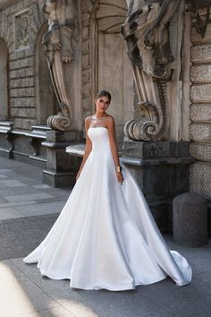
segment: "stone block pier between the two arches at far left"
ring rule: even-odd
[[[0,38],[9,49],[10,119],[14,128],[37,124],[35,52],[38,31],[46,18],[42,1],[22,0],[0,11]]]

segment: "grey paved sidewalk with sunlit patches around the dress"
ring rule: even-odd
[[[22,258],[46,236],[71,192],[42,184],[42,170],[0,158],[0,316],[13,317],[209,317],[211,316],[211,242],[181,252],[193,269],[190,286],[170,278],[135,291],[83,291],[69,280],[41,277]],[[112,270],[112,268],[111,268]]]

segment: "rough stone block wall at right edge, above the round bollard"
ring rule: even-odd
[[[206,10],[201,11],[205,19]],[[194,21],[192,21],[194,24]],[[202,38],[191,29],[190,153],[197,161],[190,167],[190,191],[211,199],[211,24]]]

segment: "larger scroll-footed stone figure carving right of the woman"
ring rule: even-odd
[[[133,140],[159,140],[165,133],[166,81],[171,79],[174,60],[169,21],[180,0],[127,0],[127,4],[121,32],[133,64],[139,111],[124,131]]]

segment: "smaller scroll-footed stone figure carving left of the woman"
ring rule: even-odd
[[[47,124],[60,131],[72,129],[72,100],[65,75],[66,64],[72,63],[72,40],[77,33],[77,6],[74,0],[45,0],[43,11],[48,18],[44,36],[46,60],[61,112],[49,116]]]

